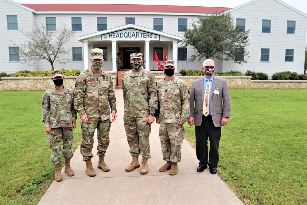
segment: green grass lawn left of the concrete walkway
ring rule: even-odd
[[[41,122],[43,93],[0,92],[0,204],[37,204],[54,179],[51,149]],[[74,150],[82,139],[78,118]]]

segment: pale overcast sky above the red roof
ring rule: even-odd
[[[209,7],[228,7],[234,8],[240,6],[246,2],[246,0],[14,0],[17,3],[77,3],[77,4],[130,4],[134,2],[137,6],[141,5],[174,5],[174,6],[209,6]],[[307,0],[283,0],[286,4],[296,8],[307,14]]]

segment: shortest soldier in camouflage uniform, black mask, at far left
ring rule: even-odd
[[[51,148],[50,161],[55,166],[55,179],[58,182],[63,179],[60,168],[62,161],[61,140],[63,140],[65,173],[68,176],[74,175],[74,171],[70,168],[70,159],[73,156],[74,136],[72,130],[76,128],[77,112],[75,111],[72,89],[63,85],[63,70],[52,71],[51,79],[55,86],[46,90],[41,99],[41,119],[48,135],[48,143]]]

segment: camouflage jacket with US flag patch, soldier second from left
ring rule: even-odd
[[[89,121],[110,119],[110,107],[111,112],[116,113],[115,101],[114,87],[108,72],[102,70],[97,78],[89,68],[77,77],[75,106],[80,117],[87,115]]]

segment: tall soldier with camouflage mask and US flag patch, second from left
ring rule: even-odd
[[[104,156],[110,144],[110,114],[112,114],[112,122],[116,120],[116,98],[111,75],[101,69],[103,61],[103,50],[91,49],[90,62],[92,66],[80,73],[75,85],[75,108],[82,120],[80,122],[82,128],[80,152],[86,163],[88,176],[96,176],[91,163],[96,128],[97,155],[99,156],[97,167],[102,171],[110,171],[104,162]]]

